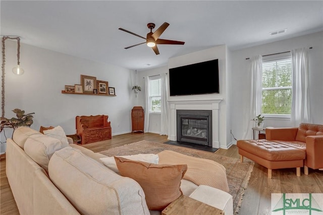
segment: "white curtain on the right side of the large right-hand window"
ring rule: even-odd
[[[292,125],[312,123],[309,102],[308,48],[291,50],[292,54]]]

